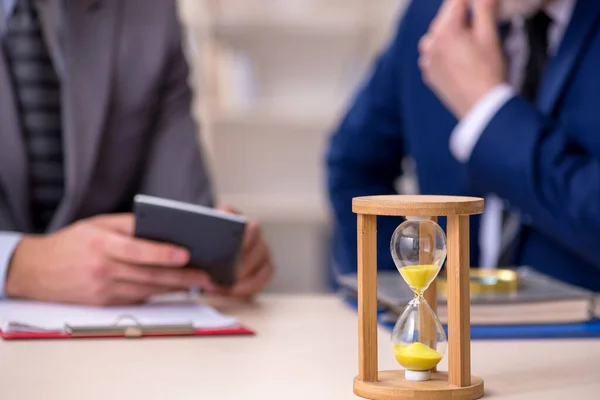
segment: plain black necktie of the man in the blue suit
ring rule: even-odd
[[[535,102],[540,82],[548,61],[548,29],[552,20],[543,11],[525,21],[529,57],[525,67],[525,79],[521,88],[521,95],[531,102]],[[515,218],[508,207],[502,212],[503,243],[498,260],[499,266],[512,266],[515,262],[515,252],[518,238],[518,225],[510,219]],[[518,222],[517,222],[518,224]]]

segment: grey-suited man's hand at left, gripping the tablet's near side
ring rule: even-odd
[[[11,260],[11,297],[89,305],[132,304],[189,288],[208,275],[183,269],[186,250],[133,237],[131,214],[85,219],[47,236],[24,237]]]

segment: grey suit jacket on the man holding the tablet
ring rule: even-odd
[[[64,1],[66,194],[49,231],[136,193],[210,205],[174,0]],[[0,49],[0,231],[28,232],[27,158]]]

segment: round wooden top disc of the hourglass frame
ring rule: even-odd
[[[441,217],[483,213],[484,200],[479,197],[391,195],[355,197],[352,211],[356,214]]]

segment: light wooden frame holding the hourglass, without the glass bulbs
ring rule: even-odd
[[[471,376],[469,216],[483,213],[484,200],[454,196],[372,196],[352,201],[358,240],[358,376],[354,393],[372,400],[472,400],[483,397],[483,380]],[[378,371],[377,216],[447,217],[448,372],[408,381],[403,370]],[[424,261],[424,260],[420,260]],[[427,260],[425,260],[427,262]],[[425,292],[436,311],[436,284]],[[424,330],[427,332],[427,330]],[[425,333],[427,334],[427,333]]]

